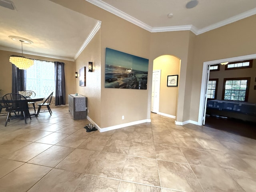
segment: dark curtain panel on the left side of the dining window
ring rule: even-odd
[[[12,64],[12,93],[26,90],[26,70],[20,70]]]

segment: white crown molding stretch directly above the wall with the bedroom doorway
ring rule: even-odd
[[[197,32],[196,32],[195,34],[196,34],[196,35],[199,35],[199,34],[208,32],[208,31],[210,31],[210,30],[213,30],[213,29],[216,29],[216,28],[225,26],[225,25],[227,25],[227,24],[236,22],[236,21],[241,20],[241,19],[244,19],[244,18],[246,18],[246,17],[250,17],[250,16],[252,16],[252,15],[254,15],[254,14],[256,14],[256,8],[251,9],[251,10],[249,10],[249,11],[246,11],[246,12],[244,12],[244,13],[238,14],[238,15],[236,15],[236,16],[230,17],[230,18],[228,18],[228,19],[226,19],[226,20],[223,20],[223,21],[218,22],[218,23],[216,23],[216,24],[210,25],[210,26],[208,26],[208,27],[199,29],[199,30],[197,30]]]

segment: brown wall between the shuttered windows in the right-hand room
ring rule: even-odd
[[[254,86],[256,85],[256,82],[255,82],[256,59],[253,60],[252,68],[225,70],[225,66],[220,65],[219,71],[211,71],[210,72],[210,78],[218,79],[217,99],[220,99],[220,100],[222,99],[224,78],[239,78],[239,77],[250,77],[251,78],[248,102],[256,103],[256,90],[254,90]]]

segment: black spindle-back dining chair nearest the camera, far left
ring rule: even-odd
[[[27,124],[27,117],[31,119],[26,97],[23,95],[18,93],[8,93],[3,96],[2,100],[4,102],[4,107],[6,108],[5,110],[8,112],[5,126],[7,125],[7,122],[10,122],[10,119],[13,118],[24,118],[25,124]],[[19,112],[20,115],[18,115]],[[12,113],[14,113],[14,115],[12,115]]]

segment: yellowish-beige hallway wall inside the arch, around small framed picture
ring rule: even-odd
[[[180,59],[171,55],[160,56],[154,60],[153,70],[161,70],[159,112],[176,116],[178,87],[168,87],[167,76],[180,75]]]

